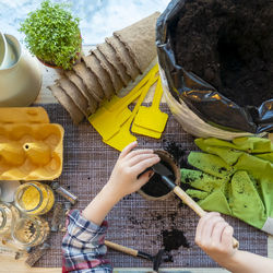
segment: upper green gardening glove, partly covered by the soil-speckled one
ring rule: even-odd
[[[210,154],[218,155],[236,170],[246,170],[257,180],[268,221],[262,228],[273,229],[273,143],[262,138],[237,138],[233,142],[197,139],[195,144]]]

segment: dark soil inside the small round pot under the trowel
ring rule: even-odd
[[[173,181],[175,181],[176,177],[169,164],[166,162],[162,162],[162,164],[164,164],[173,173],[173,176],[169,176],[169,178]],[[146,194],[154,197],[154,198],[163,197],[167,194],[168,192],[170,192],[170,189],[162,180],[162,176],[156,173],[151,177],[151,179],[141,189]]]

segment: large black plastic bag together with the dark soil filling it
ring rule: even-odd
[[[205,122],[273,130],[273,2],[173,0],[157,21],[168,90]]]

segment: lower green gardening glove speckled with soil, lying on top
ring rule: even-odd
[[[181,169],[181,179],[198,189],[189,189],[187,193],[199,199],[203,210],[235,216],[260,229],[266,222],[263,202],[246,171],[236,171],[227,181],[199,170]]]

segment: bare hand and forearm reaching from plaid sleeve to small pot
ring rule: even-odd
[[[136,141],[132,142],[120,153],[109,181],[82,212],[86,219],[99,226],[121,198],[135,192],[147,182],[153,171],[146,171],[141,177],[139,175],[161,158],[153,150],[132,151],[136,145]]]

